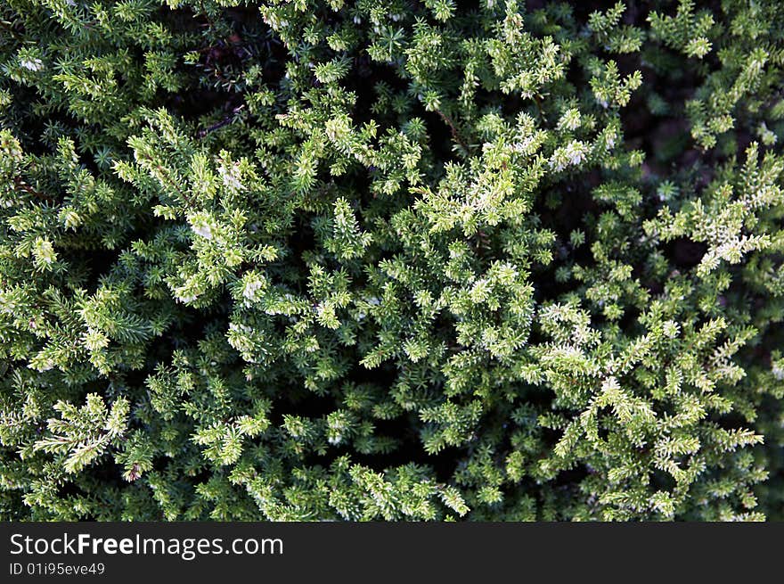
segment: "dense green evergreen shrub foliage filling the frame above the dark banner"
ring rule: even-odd
[[[784,515],[779,0],[3,0],[0,516]]]

